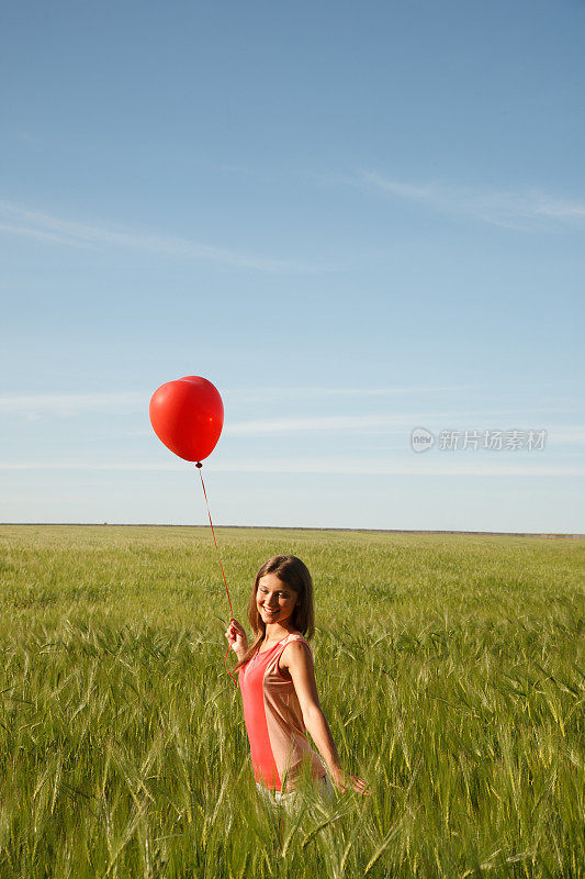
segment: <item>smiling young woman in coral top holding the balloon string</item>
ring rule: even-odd
[[[248,620],[255,633],[250,646],[236,620],[230,620],[225,635],[238,657],[236,670],[259,790],[273,791],[278,800],[294,794],[301,768],[308,761],[315,783],[330,798],[331,782],[306,739],[308,730],[336,787],[345,791],[349,783],[369,795],[363,779],[346,776],[341,769],[320,710],[307,643],[315,628],[313,581],[300,558],[274,556],[262,565],[254,581]]]

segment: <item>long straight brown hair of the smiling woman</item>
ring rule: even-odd
[[[297,593],[296,604],[290,616],[291,624],[295,630],[301,632],[307,639],[312,638],[315,634],[315,610],[313,607],[313,580],[308,568],[296,556],[272,556],[268,561],[265,561],[254,581],[250,600],[248,602],[248,620],[252,627],[255,638],[252,644],[248,647],[239,663],[236,665],[234,671],[241,668],[254,654],[260,642],[263,641],[266,635],[266,623],[258,613],[256,605],[256,593],[258,591],[258,583],[265,574],[275,574],[279,580]]]

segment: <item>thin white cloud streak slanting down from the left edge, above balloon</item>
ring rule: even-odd
[[[154,235],[143,231],[116,229],[103,224],[61,220],[52,214],[31,211],[19,204],[0,201],[0,231],[36,238],[67,247],[123,247],[148,251],[167,256],[204,259],[258,271],[330,271],[331,266],[302,260],[274,259],[246,254],[172,235]]]

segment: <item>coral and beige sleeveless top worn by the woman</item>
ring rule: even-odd
[[[311,761],[314,778],[325,775],[318,754],[305,736],[306,727],[292,678],[285,669],[279,668],[282,652],[292,641],[301,641],[311,653],[301,633],[293,632],[270,650],[257,650],[239,670],[254,777],[260,785],[279,791],[294,790],[304,759]]]

